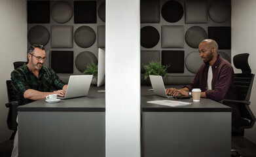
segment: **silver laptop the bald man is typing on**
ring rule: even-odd
[[[166,88],[164,87],[162,76],[149,75],[149,78],[155,95],[172,98],[172,96],[168,96],[166,94]]]

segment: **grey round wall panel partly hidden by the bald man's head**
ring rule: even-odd
[[[192,48],[198,48],[199,43],[204,39],[207,39],[207,33],[199,26],[190,27],[185,35],[186,43]]]

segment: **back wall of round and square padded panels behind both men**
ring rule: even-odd
[[[202,64],[198,44],[207,38],[215,39],[219,54],[230,61],[230,8],[230,0],[141,0],[141,82],[143,65],[155,60],[170,65],[166,84],[188,84]],[[105,48],[104,0],[28,1],[27,13],[27,46],[44,44],[45,65],[65,82],[69,75],[82,75],[87,63],[97,63],[98,48]]]

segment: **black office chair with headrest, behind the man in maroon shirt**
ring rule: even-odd
[[[249,108],[251,88],[253,86],[254,74],[251,73],[251,68],[248,64],[249,54],[238,54],[234,56],[233,63],[237,69],[241,69],[242,73],[236,73],[234,75],[234,84],[236,86],[237,98],[240,101],[246,103],[240,103],[238,105],[242,118],[250,120],[249,124],[244,128],[251,128],[255,123],[255,116]]]

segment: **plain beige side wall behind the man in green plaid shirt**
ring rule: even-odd
[[[7,128],[7,90],[5,81],[10,79],[14,61],[26,61],[27,13],[25,0],[0,1],[0,143],[9,139]]]

